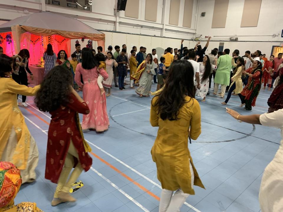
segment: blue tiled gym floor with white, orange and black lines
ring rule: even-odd
[[[152,85],[152,91],[156,85]],[[107,97],[109,130],[84,132],[92,148],[93,165],[78,179],[84,186],[73,193],[77,202],[55,207],[50,203],[56,184],[44,178],[50,114],[40,112],[32,97],[27,99],[28,107],[19,106],[37,142],[40,160],[36,181],[22,185],[16,204],[35,202],[45,212],[158,211],[161,187],[150,154],[158,130],[149,123],[152,97],[139,98],[129,85],[126,88],[121,91],[113,87]],[[238,107],[241,102],[234,95],[227,107],[245,115],[262,114],[267,112],[271,92],[261,90],[252,111]],[[206,102],[200,102],[202,133],[188,145],[206,190],[195,187],[196,195],[187,198],[181,211],[259,212],[262,173],[279,148],[280,130],[237,122],[220,103],[227,93],[224,99],[212,93],[211,89]]]

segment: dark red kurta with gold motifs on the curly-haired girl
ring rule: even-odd
[[[78,152],[82,168],[88,171],[92,165],[92,158],[87,153],[89,150],[83,138],[78,113],[88,114],[89,108],[85,102],[79,102],[73,94],[67,106],[61,106],[50,112],[52,120],[48,131],[45,178],[53,183],[58,182],[71,139]],[[77,158],[74,160],[78,162]]]

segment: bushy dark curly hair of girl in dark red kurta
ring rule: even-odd
[[[40,84],[34,102],[39,110],[50,112],[69,103],[72,75],[62,66],[55,66]]]

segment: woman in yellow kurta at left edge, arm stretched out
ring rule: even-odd
[[[0,55],[0,160],[16,165],[26,183],[36,178],[38,149],[17,106],[17,94],[34,96],[40,85],[31,88],[6,78],[12,64],[11,57]]]

